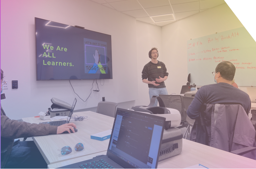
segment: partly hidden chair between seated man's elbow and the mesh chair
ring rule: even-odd
[[[183,106],[184,106],[184,111],[185,111],[185,115],[186,117],[184,119],[186,119],[186,123],[188,124],[188,127],[186,129],[186,132],[184,134],[184,137],[185,139],[187,139],[187,136],[188,136],[188,133],[190,133],[190,127],[193,127],[194,123],[195,123],[195,120],[192,120],[190,119],[188,116],[187,116],[187,109],[188,109],[188,106],[191,104],[192,100],[194,98],[190,98],[190,97],[184,97],[182,96],[182,102],[183,102]]]

